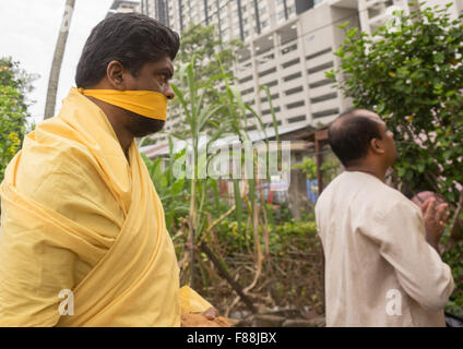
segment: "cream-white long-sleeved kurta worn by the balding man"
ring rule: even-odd
[[[345,171],[320,195],[316,217],[327,326],[446,325],[452,274],[413,202],[373,176]]]

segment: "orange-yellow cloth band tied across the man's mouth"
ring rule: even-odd
[[[132,111],[140,116],[166,120],[167,97],[153,91],[117,91],[76,88],[84,96],[94,97],[112,106]]]

